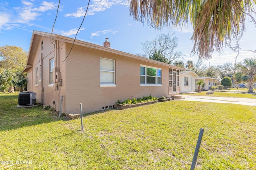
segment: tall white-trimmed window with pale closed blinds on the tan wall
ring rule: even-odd
[[[100,58],[100,84],[115,85],[115,61]]]

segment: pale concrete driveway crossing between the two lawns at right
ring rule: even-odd
[[[248,106],[256,106],[256,98],[249,99],[249,98],[224,98],[224,97],[212,97],[212,96],[190,96],[190,95],[183,95],[187,101],[200,101],[200,102],[214,102],[214,103],[231,103],[231,104],[242,104]]]

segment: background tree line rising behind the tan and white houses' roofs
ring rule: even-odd
[[[256,82],[256,59],[245,59],[243,63],[232,64],[224,63],[216,66],[206,66],[202,59],[198,59],[196,63],[189,60],[184,63],[182,61],[182,52],[176,51],[178,47],[178,38],[174,33],[157,35],[151,41],[145,41],[142,44],[144,54],[137,54],[141,57],[146,57],[156,61],[161,61],[168,64],[173,64],[181,68],[186,68],[187,71],[194,71],[198,76],[216,78],[229,77],[232,82],[246,82],[248,92],[253,93],[253,85]],[[232,84],[230,84],[231,86]]]

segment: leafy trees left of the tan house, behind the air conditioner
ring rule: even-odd
[[[3,93],[27,90],[27,74],[22,73],[27,55],[21,47],[0,47],[0,89]]]

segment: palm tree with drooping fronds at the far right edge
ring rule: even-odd
[[[255,93],[253,82],[256,78],[256,59],[244,59],[244,64],[238,64],[239,72],[234,74],[237,82],[248,82],[248,93]]]

